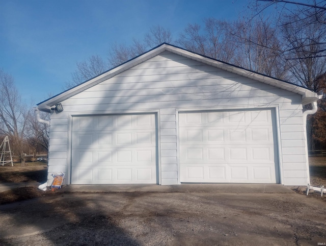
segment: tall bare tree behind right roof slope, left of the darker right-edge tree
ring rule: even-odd
[[[281,40],[269,21],[235,21],[229,30],[236,50],[233,64],[270,77],[288,78],[289,64],[281,56]]]

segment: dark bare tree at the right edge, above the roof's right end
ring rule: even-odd
[[[326,15],[324,23],[314,19],[310,11],[286,15],[281,30],[292,74],[298,83],[318,92],[316,78],[326,71]]]

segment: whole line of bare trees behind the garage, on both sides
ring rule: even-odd
[[[169,29],[151,27],[143,40],[111,45],[105,59],[93,55],[77,62],[65,89],[167,42],[322,94],[317,113],[308,116],[308,148],[326,149],[326,1],[308,3],[251,1],[246,17],[230,22],[210,17],[203,26],[189,23],[177,38]],[[0,70],[0,79],[0,135],[11,138],[23,163],[24,146],[47,150],[48,129],[22,104],[13,78]]]

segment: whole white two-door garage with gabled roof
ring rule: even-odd
[[[317,100],[163,43],[38,104],[50,113],[47,185],[57,172],[65,184],[307,185]]]

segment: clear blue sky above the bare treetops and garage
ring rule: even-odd
[[[178,38],[187,23],[233,20],[246,0],[0,0],[0,68],[34,104],[62,92],[92,55],[106,58],[113,43],[143,39],[152,26]]]

